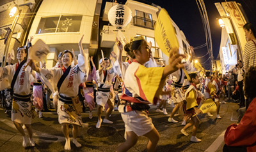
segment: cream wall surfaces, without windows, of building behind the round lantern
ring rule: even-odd
[[[125,4],[127,6],[129,6],[129,8],[131,9],[132,17],[135,16],[135,10],[138,10],[138,11],[143,11],[145,13],[150,13],[152,15],[152,20],[154,20],[154,21],[157,20],[157,11],[159,11],[158,8],[156,8],[154,6],[150,6],[148,4],[140,3],[138,1],[132,1],[132,0],[127,0],[127,2]],[[114,5],[116,5],[116,3],[109,3],[109,2],[106,3],[102,20],[108,21],[108,11]],[[172,20],[172,22],[173,22],[173,20]],[[187,47],[189,48],[189,44],[186,41],[186,36],[183,34],[182,31],[180,31],[179,27],[175,24],[175,22],[173,22],[173,26],[175,27],[176,32],[177,32],[177,39],[179,41],[180,53],[184,53],[182,39],[184,39],[183,41],[186,43]],[[116,52],[118,49],[117,46],[115,45],[115,41],[116,41],[116,31],[115,30],[116,30],[116,28],[111,25],[110,26],[104,25],[104,27],[102,29],[102,31],[104,31],[104,32],[102,33],[102,41],[101,41],[102,47],[108,47],[108,48],[113,47],[114,52]],[[124,31],[122,33],[124,34],[125,38],[127,39],[127,42],[129,42],[130,39],[132,37],[136,36],[137,34],[139,34],[141,36],[148,36],[148,37],[154,38],[154,30],[134,26],[133,18],[132,18],[130,24],[128,24],[127,27],[125,27],[125,29],[122,29],[122,30]],[[163,58],[163,60],[165,60],[166,65],[168,65],[168,57],[166,55],[164,55],[164,53],[161,52],[161,50],[159,50],[159,55],[160,55],[160,57]],[[126,52],[123,52],[122,56],[126,56]]]

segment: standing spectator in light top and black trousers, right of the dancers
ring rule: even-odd
[[[238,81],[238,86],[239,86],[239,93],[240,93],[240,103],[239,103],[239,107],[244,107],[244,92],[243,92],[243,76],[244,76],[244,67],[243,67],[243,62],[241,60],[237,61],[236,64],[236,74],[238,74],[237,76],[237,81]]]

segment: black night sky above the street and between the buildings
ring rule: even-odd
[[[200,13],[198,10],[198,6],[196,1],[193,0],[147,0],[148,2],[152,2],[161,6],[161,8],[165,8],[172,20],[175,24],[178,25],[181,31],[184,32],[186,38],[189,41],[189,44],[193,47],[203,45],[205,40],[205,32],[202,24],[202,19],[200,17]],[[125,4],[126,0],[118,0],[118,3],[122,2]],[[207,10],[210,28],[211,28],[211,36],[212,36],[212,52],[214,59],[217,58],[219,50],[220,50],[220,40],[221,40],[221,27],[219,25],[218,20],[216,18],[220,18],[220,14],[216,9],[214,3],[225,2],[216,1],[216,0],[204,0],[205,7]],[[237,0],[237,3],[241,3],[244,8],[244,11],[248,17],[249,22],[251,22],[256,28],[256,1],[255,0]],[[102,10],[104,9],[104,5],[106,0],[102,1]],[[207,48],[201,48],[199,50],[195,50],[196,57],[202,57],[207,53]],[[204,58],[198,59],[200,63],[204,63],[209,58],[209,55],[206,55]],[[210,69],[210,60],[205,63],[205,69]]]

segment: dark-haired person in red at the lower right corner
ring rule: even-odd
[[[254,152],[256,151],[256,67],[250,67],[244,78],[244,91],[249,99],[253,99],[244,113],[239,125],[230,125],[224,136],[223,151]]]

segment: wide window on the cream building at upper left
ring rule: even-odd
[[[36,30],[36,34],[52,32],[79,32],[82,17],[82,15],[42,17]]]

